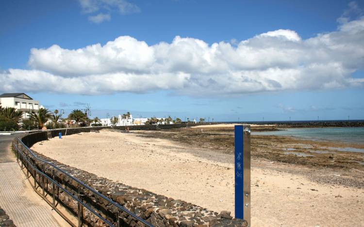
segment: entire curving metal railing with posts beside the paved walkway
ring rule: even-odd
[[[69,173],[67,173],[65,170],[55,166],[53,163],[47,162],[39,157],[37,157],[19,138],[16,138],[16,141],[13,143],[13,148],[16,151],[16,155],[17,155],[17,163],[19,164],[19,166],[21,166],[22,171],[24,172],[24,174],[26,174],[28,181],[30,182],[30,184],[32,185],[34,191],[36,193],[39,194],[39,196],[41,196],[45,201],[48,202],[48,204],[50,204],[50,206],[52,206],[52,208],[58,212],[71,226],[73,227],[81,227],[83,225],[83,218],[82,218],[82,210],[84,208],[86,208],[87,210],[89,210],[90,212],[92,212],[94,215],[96,215],[99,219],[101,219],[104,223],[106,223],[108,226],[110,227],[120,227],[121,223],[120,223],[120,219],[122,219],[122,217],[120,216],[120,212],[125,212],[128,215],[130,215],[134,220],[143,223],[145,226],[148,227],[153,227],[151,224],[149,224],[147,221],[145,221],[144,219],[136,216],[134,213],[130,212],[128,209],[124,208],[123,206],[117,204],[116,202],[114,202],[113,200],[111,200],[108,197],[105,197],[104,195],[100,194],[98,191],[96,191],[95,189],[93,189],[92,187],[88,186],[87,184],[83,183],[82,181],[78,180],[77,178],[71,176]],[[26,152],[24,152],[23,150],[25,150]],[[35,163],[32,163],[31,159],[29,158],[30,156],[33,157],[33,159],[38,160],[39,162],[42,163],[42,170],[38,169],[35,166]],[[20,163],[19,163],[20,161]],[[51,176],[49,176],[48,174],[46,174],[45,172],[45,168],[44,165],[49,165],[52,167],[52,174]],[[26,172],[24,170],[24,168],[26,168]],[[72,179],[73,181],[77,182],[77,196],[75,196],[72,192],[68,191],[65,187],[63,187],[61,185],[61,183],[57,182],[55,180],[55,171],[59,171],[63,174],[65,174],[67,177],[69,177],[70,179]],[[38,174],[38,182],[37,182],[37,174]],[[33,177],[33,184],[30,180],[30,177]],[[47,181],[47,182],[45,182]],[[48,188],[48,183],[52,184],[52,188],[51,190],[49,190]],[[38,186],[37,186],[38,183]],[[74,199],[75,201],[77,201],[77,216],[78,216],[78,225],[76,226],[71,220],[69,220],[65,214],[63,214],[58,208],[57,205],[60,201],[59,197],[57,198],[57,204],[56,204],[56,186],[57,186],[57,191],[58,191],[58,195],[59,195],[59,189],[62,190],[63,192],[65,192],[68,196],[70,196],[72,199]],[[42,193],[40,193],[37,189],[41,187],[42,189]],[[112,221],[107,220],[106,217],[103,217],[99,212],[95,211],[92,207],[90,207],[89,205],[87,205],[85,202],[83,202],[83,200],[81,199],[82,195],[81,194],[81,188],[85,188],[87,190],[89,190],[91,193],[93,193],[95,195],[95,197],[99,197],[101,199],[103,199],[104,201],[108,202],[109,204],[111,204],[112,210],[116,210],[116,226],[112,223]],[[49,193],[47,192],[46,195],[46,190],[49,192],[51,191],[52,194],[52,201],[47,199],[47,195],[49,195]]]

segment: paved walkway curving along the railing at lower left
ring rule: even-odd
[[[65,226],[57,213],[33,192],[11,152],[12,140],[20,134],[0,135],[0,207],[17,227]]]

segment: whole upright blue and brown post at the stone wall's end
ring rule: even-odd
[[[235,217],[250,226],[250,125],[235,125]]]

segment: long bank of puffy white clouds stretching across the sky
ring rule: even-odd
[[[33,48],[30,70],[0,72],[0,91],[105,94],[169,90],[193,96],[364,87],[364,17],[341,20],[335,31],[302,39],[275,30],[209,45],[176,36],[148,45],[120,36],[79,49]]]

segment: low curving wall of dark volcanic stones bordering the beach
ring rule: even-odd
[[[183,124],[184,125],[184,124]],[[144,126],[144,125],[142,125]],[[159,125],[162,126],[162,125]],[[175,125],[175,127],[178,125]],[[184,125],[185,126],[185,125]],[[131,126],[129,126],[131,127]],[[153,126],[154,127],[154,126]],[[140,127],[141,128],[141,127]],[[148,127],[151,128],[151,127]],[[70,129],[70,134],[87,132],[95,128],[80,128]],[[99,128],[98,128],[99,129]],[[146,130],[145,127],[143,130]],[[52,135],[58,135],[57,130],[51,131]],[[33,133],[22,137],[22,141],[26,144],[31,144],[44,140],[48,135],[47,132]],[[69,135],[69,134],[68,134]],[[233,219],[230,212],[213,212],[197,205],[182,201],[180,199],[168,198],[162,195],[157,195],[144,189],[130,187],[128,185],[112,182],[108,179],[101,178],[95,174],[88,173],[81,169],[71,166],[66,166],[62,163],[52,160],[42,154],[34,153],[42,159],[45,159],[61,169],[68,172],[73,177],[79,179],[85,184],[96,189],[99,193],[109,197],[113,201],[124,206],[129,211],[135,213],[141,218],[147,220],[149,223],[156,227],[246,227],[247,222],[239,219]],[[50,177],[52,176],[53,168],[48,165],[42,165],[41,162],[30,157],[32,162]],[[78,183],[71,178],[65,176],[62,172],[55,171],[55,179],[60,182],[66,190],[70,191],[73,195],[77,195]],[[41,184],[41,178],[36,178],[38,184]],[[47,192],[52,194],[52,185],[48,183]],[[201,189],[202,190],[202,189]],[[81,194],[83,202],[88,206],[97,210],[103,217],[107,218],[110,222],[116,225],[116,208],[102,198],[95,196],[91,191],[81,187]],[[69,211],[76,214],[77,202],[68,196],[65,192],[57,190],[55,193],[57,199]],[[83,223],[87,226],[101,227],[106,226],[99,218],[87,209],[83,208]],[[122,222],[121,226],[143,226],[141,223],[136,222],[127,213],[121,213]]]

